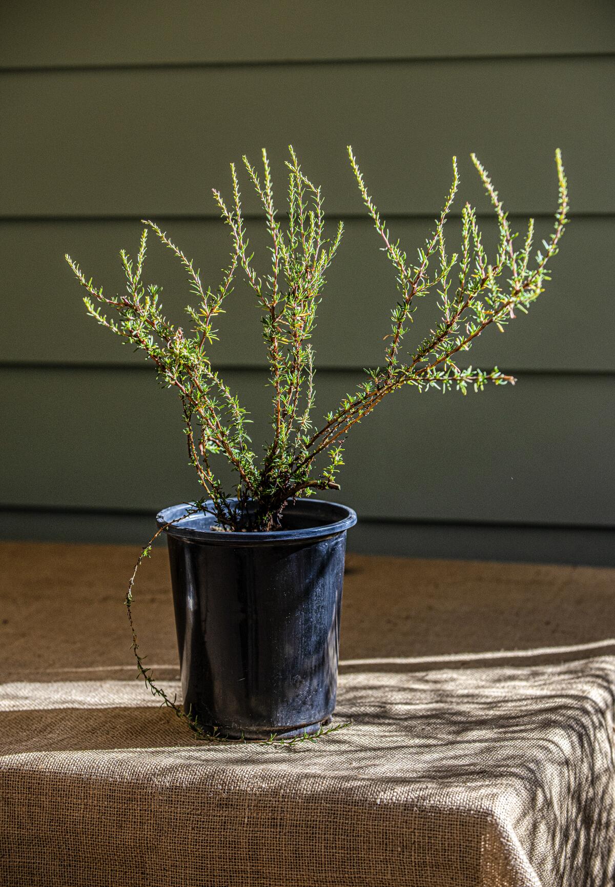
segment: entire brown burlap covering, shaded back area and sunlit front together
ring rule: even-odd
[[[613,883],[615,658],[557,663],[582,655],[580,645],[587,653],[609,651],[608,636],[596,633],[598,620],[588,616],[581,624],[588,601],[575,585],[578,574],[545,573],[542,615],[556,616],[557,608],[549,608],[552,585],[559,619],[563,613],[574,618],[570,633],[556,619],[562,633],[552,640],[560,641],[560,652],[552,645],[516,655],[543,662],[529,666],[502,652],[486,668],[433,669],[468,645],[475,656],[487,656],[487,648],[472,651],[471,637],[460,641],[454,632],[448,647],[440,636],[432,662],[409,658],[416,647],[428,655],[420,647],[424,637],[412,645],[404,608],[392,607],[397,591],[386,600],[372,586],[371,627],[363,631],[371,635],[386,625],[389,646],[377,648],[370,637],[369,655],[357,655],[360,646],[351,648],[354,655],[343,649],[350,662],[341,669],[337,714],[353,717],[354,726],[289,751],[204,746],[141,685],[123,679],[129,649],[115,572],[125,578],[132,552],[46,546],[37,564],[21,561],[13,569],[19,553],[33,552],[4,549],[0,883]],[[160,663],[173,689],[172,628],[163,620],[157,637],[155,619],[150,622],[168,614],[166,564],[157,558],[144,582],[148,608],[138,614],[151,661]],[[392,588],[403,585],[408,570],[419,589],[433,585],[430,577],[438,573],[435,564],[382,561],[378,581]],[[457,635],[469,621],[468,608],[479,606],[471,593],[460,592],[471,586],[471,569],[478,586],[481,570],[487,571],[495,590],[494,565],[457,565],[456,582],[455,566],[440,565],[457,595]],[[518,601],[525,569],[502,567],[500,591],[509,603]],[[370,561],[351,560],[345,613],[351,639],[353,609],[356,618],[363,606],[358,589],[369,595],[366,574],[369,580]],[[611,571],[588,571],[585,578],[588,598],[606,596],[607,586],[611,591]],[[493,603],[502,608],[502,600]],[[443,599],[440,606],[448,611]],[[535,601],[532,606],[539,611]],[[121,632],[112,610],[120,611]],[[401,646],[391,640],[396,620]],[[518,621],[510,608],[513,631]],[[536,642],[545,627],[528,624],[528,635]],[[477,638],[485,635],[488,622],[475,630]],[[475,665],[471,653],[455,665]]]

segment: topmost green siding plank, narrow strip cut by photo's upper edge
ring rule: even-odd
[[[87,15],[75,0],[4,0],[0,25],[4,67],[615,51],[610,0],[517,0],[496,14],[490,0],[131,0]]]

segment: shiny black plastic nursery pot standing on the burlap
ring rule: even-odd
[[[159,526],[190,506],[171,506]],[[213,530],[211,514],[167,526],[183,705],[204,728],[260,739],[317,731],[338,682],[351,508],[297,499],[281,530]]]

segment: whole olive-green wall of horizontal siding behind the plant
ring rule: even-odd
[[[4,0],[0,49],[4,538],[138,541],[157,508],[198,495],[175,398],[85,317],[66,251],[122,287],[118,250],[136,250],[139,219],[153,217],[215,283],[228,244],[211,187],[228,192],[228,162],[258,160],[266,145],[282,195],[292,141],[346,225],[315,337],[324,411],[382,362],[396,298],[346,144],[409,251],[453,153],[487,241],[471,151],[512,224],[532,215],[548,232],[559,146],[572,224],[549,291],[471,352],[518,385],[390,398],[349,438],[336,498],[362,516],[350,544],[364,551],[615,562],[611,0],[58,2],[35,13]],[[172,259],[152,243],[151,279],[179,319],[187,287]],[[258,310],[241,287],[231,300],[214,362],[258,411]],[[433,303],[419,308],[417,339],[435,320]]]

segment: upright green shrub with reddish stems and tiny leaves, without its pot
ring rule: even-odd
[[[267,271],[256,269],[242,216],[241,197],[234,164],[230,165],[232,196],[225,201],[214,190],[214,200],[230,232],[230,262],[222,282],[205,287],[193,263],[167,233],[145,221],[136,260],[121,251],[127,279],[125,294],[109,296],[97,288],[70,256],[77,279],[87,290],[88,313],[102,326],[131,342],[152,360],[165,387],[180,396],[184,431],[191,464],[196,468],[204,497],[195,508],[213,509],[220,530],[276,530],[284,506],[315,491],[339,489],[344,442],[350,429],[364,419],[385,397],[410,385],[425,389],[469,387],[483,389],[487,382],[503,385],[510,376],[494,370],[462,368],[457,357],[467,351],[487,326],[502,330],[517,311],[526,311],[549,280],[549,262],[557,253],[568,213],[566,179],[556,152],[559,201],[554,231],[543,241],[543,251],[532,255],[533,220],[521,245],[510,229],[502,201],[487,170],[472,154],[482,183],[494,206],[499,244],[492,260],[482,244],[476,210],[466,203],[461,214],[461,250],[448,255],[444,228],[455,200],[459,179],[453,159],[453,182],[440,216],[416,260],[389,233],[364,183],[348,147],[350,164],[362,200],[382,241],[396,279],[398,301],[391,313],[391,330],[385,337],[382,367],[365,370],[365,379],[354,394],[345,396],[319,423],[315,422],[315,365],[311,336],[316,309],[323,296],[327,270],[342,238],[340,223],[334,239],[323,233],[323,195],[320,187],[303,174],[292,147],[288,168],[288,215],[280,220],[273,199],[267,153],[262,170],[244,157],[245,170],[257,192],[269,232],[270,263]],[[191,328],[171,324],[162,313],[160,287],[144,283],[148,231],[175,253],[190,281],[194,303],[186,308]],[[261,307],[262,335],[269,360],[272,390],[272,435],[261,455],[251,447],[248,416],[237,395],[215,371],[207,346],[216,338],[215,319],[230,296],[237,275],[243,276]],[[413,349],[405,350],[405,338],[416,300],[435,291],[440,321]],[[105,309],[111,312],[105,314]],[[223,489],[214,471],[214,457],[228,459],[237,476],[236,489]]]

